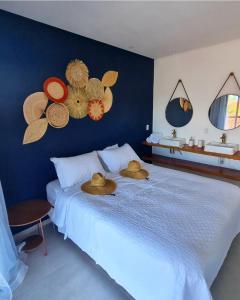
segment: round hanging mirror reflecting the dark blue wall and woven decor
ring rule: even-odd
[[[185,98],[175,98],[168,102],[166,107],[166,119],[173,127],[187,125],[192,119],[191,102]]]

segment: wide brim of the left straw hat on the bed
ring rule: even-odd
[[[81,186],[81,190],[91,195],[109,195],[116,190],[116,183],[113,180],[106,179],[104,186],[93,186],[91,181],[87,181]]]

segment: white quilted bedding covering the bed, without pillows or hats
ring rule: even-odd
[[[138,300],[212,299],[209,288],[240,232],[240,189],[144,167],[150,180],[108,175],[115,197],[49,183],[52,221]]]

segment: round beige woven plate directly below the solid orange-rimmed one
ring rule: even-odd
[[[52,127],[63,128],[68,124],[69,111],[63,103],[53,103],[48,106],[46,117]]]

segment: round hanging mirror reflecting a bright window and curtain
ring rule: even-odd
[[[240,96],[223,95],[215,99],[209,108],[210,122],[218,129],[229,130],[240,125]]]

